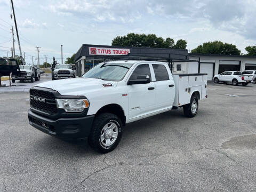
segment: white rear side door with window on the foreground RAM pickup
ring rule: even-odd
[[[175,97],[175,86],[171,71],[164,64],[152,64],[156,87],[156,110],[171,108]]]

